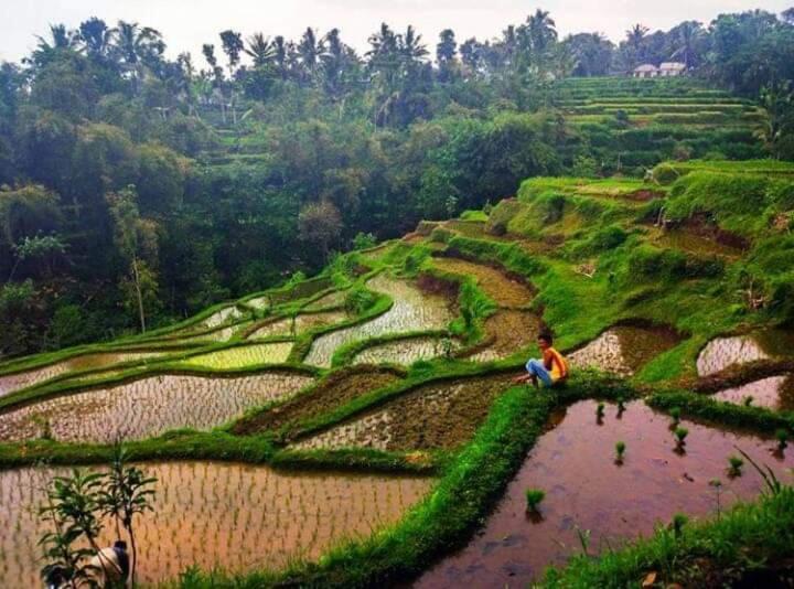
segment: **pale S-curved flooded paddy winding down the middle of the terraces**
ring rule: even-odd
[[[334,352],[342,345],[390,333],[438,330],[452,319],[446,298],[425,293],[409,281],[380,274],[367,282],[367,288],[391,297],[391,309],[372,321],[321,335],[312,343],[307,364],[330,367]]]

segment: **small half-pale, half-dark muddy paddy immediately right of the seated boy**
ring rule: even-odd
[[[680,336],[664,325],[618,325],[569,354],[568,360],[575,367],[592,367],[631,376],[678,342]]]

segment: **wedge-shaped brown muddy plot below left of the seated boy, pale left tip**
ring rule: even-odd
[[[426,385],[294,447],[454,448],[471,439],[493,399],[509,387],[509,378],[501,375]]]

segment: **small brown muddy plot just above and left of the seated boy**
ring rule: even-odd
[[[500,310],[485,320],[485,338],[490,343],[469,356],[472,362],[504,360],[536,344],[540,320],[530,311]]]

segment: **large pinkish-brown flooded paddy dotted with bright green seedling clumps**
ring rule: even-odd
[[[773,458],[774,442],[682,421],[689,429],[684,454],[674,451],[669,418],[642,401],[627,405],[619,419],[607,407],[597,424],[596,401],[578,403],[555,420],[509,483],[504,499],[471,544],[426,572],[415,585],[437,587],[526,587],[549,565],[581,554],[577,531],[589,533],[589,553],[648,536],[657,523],[677,513],[709,517],[722,482],[720,508],[750,500],[762,481],[747,464],[738,478],[727,475],[727,457],[738,446],[792,482],[794,451]],[[626,445],[623,465],[614,463],[615,442]],[[540,517],[526,513],[525,491],[540,489]]]

